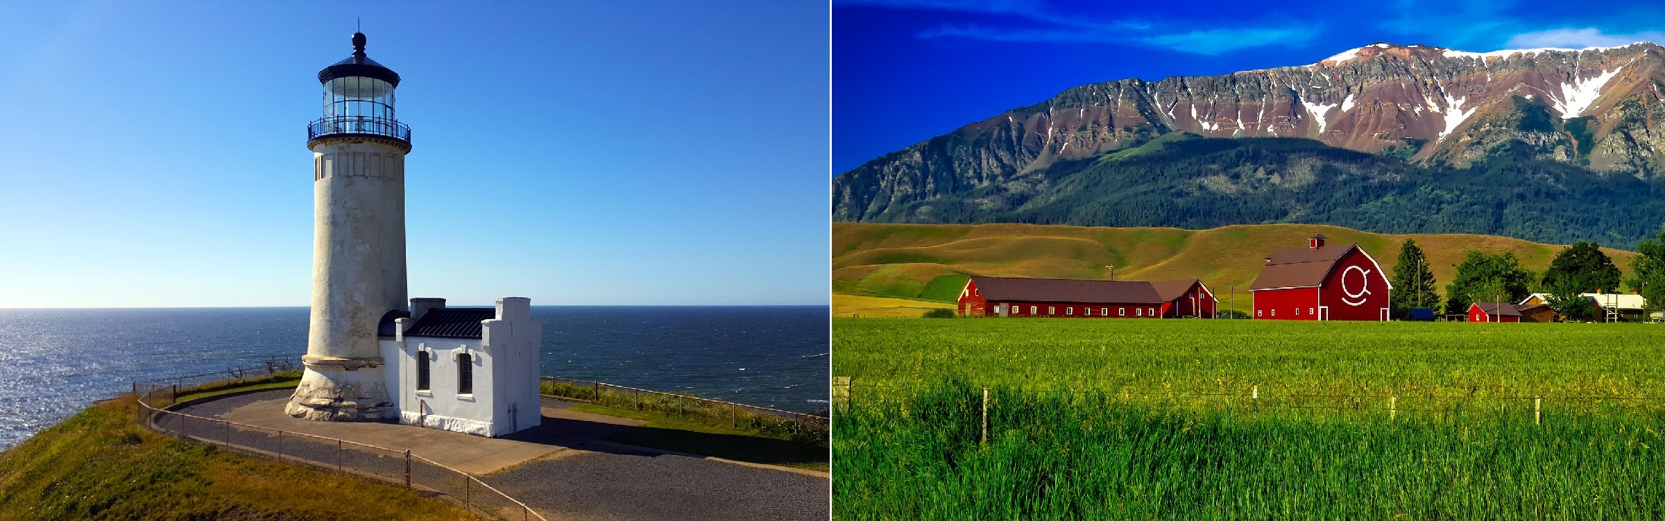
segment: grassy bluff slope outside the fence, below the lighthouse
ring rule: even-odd
[[[400,486],[231,454],[93,404],[0,453],[0,521],[480,519]]]

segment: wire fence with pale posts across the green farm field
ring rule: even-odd
[[[1407,413],[1424,413],[1439,418],[1462,418],[1464,414],[1530,414],[1532,421],[1542,424],[1547,413],[1653,413],[1665,414],[1665,396],[1462,396],[1462,394],[1322,394],[1322,393],[1262,393],[1260,386],[1250,386],[1239,393],[1207,391],[1142,391],[1142,390],[1101,390],[1101,388],[1024,388],[1024,386],[977,386],[964,385],[969,396],[966,399],[981,401],[984,411],[997,408],[1001,396],[1052,396],[1069,398],[1089,406],[1179,406],[1210,408],[1240,411],[1277,411],[1277,409],[1315,409],[1315,411],[1352,411],[1384,414],[1395,419]],[[866,383],[849,376],[832,378],[832,406],[837,411],[849,409],[852,401],[894,401],[909,399],[921,391],[942,391],[942,385],[909,385],[909,383]],[[991,393],[992,390],[992,393]]]

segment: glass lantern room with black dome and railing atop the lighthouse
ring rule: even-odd
[[[411,130],[393,115],[400,75],[365,55],[365,33],[353,33],[353,55],[318,72],[323,118],[306,127],[306,140],[380,136],[410,145]]]

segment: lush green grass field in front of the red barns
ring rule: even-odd
[[[1657,325],[834,320],[832,375],[852,376],[834,514],[1660,519],[1660,340]]]

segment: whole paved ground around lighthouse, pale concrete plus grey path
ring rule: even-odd
[[[218,416],[261,428],[360,441],[413,454],[480,476],[491,486],[524,501],[548,519],[828,519],[829,483],[823,473],[734,464],[713,458],[643,449],[603,441],[613,433],[641,424],[639,419],[576,413],[571,403],[546,399],[543,424],[508,438],[480,438],[450,431],[388,423],[325,423],[283,414],[290,390],[226,396],[181,408],[181,413]],[[158,423],[163,429],[180,426]],[[230,429],[191,433],[231,443],[300,454],[321,463],[336,461],[335,444],[305,448],[298,439],[283,443],[255,429],[231,436]],[[283,443],[283,444],[276,444]],[[345,451],[355,453],[355,451]],[[363,453],[348,458],[348,468],[396,476],[403,458]],[[418,483],[423,476],[416,476]],[[430,476],[443,479],[443,476]],[[455,494],[453,494],[455,496]]]

